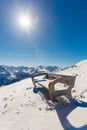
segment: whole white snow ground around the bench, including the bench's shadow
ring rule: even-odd
[[[87,61],[58,73],[77,74],[72,96],[86,103]],[[0,88],[0,130],[87,130],[87,107],[71,101],[51,110],[28,78]]]

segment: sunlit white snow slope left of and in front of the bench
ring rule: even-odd
[[[56,130],[56,112],[48,111],[31,79],[0,88],[0,130]],[[53,124],[52,124],[53,123]]]

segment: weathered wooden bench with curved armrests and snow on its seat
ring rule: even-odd
[[[49,92],[51,100],[55,101],[60,95],[71,96],[75,78],[75,76],[40,73],[32,76],[32,82],[34,87],[44,87]]]

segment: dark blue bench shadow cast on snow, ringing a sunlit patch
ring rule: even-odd
[[[59,118],[64,130],[87,130],[87,125],[76,128],[67,119],[67,116],[78,106],[87,107],[87,103],[85,103],[85,102],[79,103],[79,102],[75,102],[74,100],[72,100],[71,103],[69,103],[69,104],[56,105],[56,112],[57,112],[58,118]]]

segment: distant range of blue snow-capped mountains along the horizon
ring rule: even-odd
[[[14,66],[6,66],[0,65],[0,86],[7,85],[10,83],[14,83],[16,81],[29,78],[32,74],[36,74],[39,72],[50,72],[54,73],[60,70],[60,67],[56,66],[37,66],[37,67],[14,67]]]

